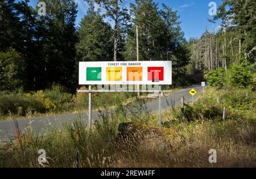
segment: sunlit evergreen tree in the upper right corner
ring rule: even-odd
[[[226,8],[228,7],[228,8]],[[251,50],[256,54],[256,2],[254,0],[224,0],[211,22],[222,20],[222,26],[236,32],[239,38],[238,53],[247,57]],[[255,59],[249,59],[255,62]]]

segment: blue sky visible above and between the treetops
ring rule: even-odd
[[[78,14],[76,19],[76,25],[79,25],[81,18],[86,14],[88,5],[84,0],[75,0],[78,4]],[[221,5],[221,0],[154,0],[159,3],[159,7],[162,3],[168,5],[173,10],[177,10],[177,14],[180,15],[181,29],[185,33],[185,38],[200,37],[205,29],[209,31],[216,31],[220,22],[213,24],[208,21],[212,16],[209,15],[209,2],[216,2],[217,7]],[[36,6],[37,0],[31,0],[31,5]],[[128,6],[134,0],[125,0],[125,4]],[[105,19],[106,22],[112,23],[109,19]]]

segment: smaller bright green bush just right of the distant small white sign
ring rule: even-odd
[[[225,84],[225,69],[224,68],[218,68],[213,71],[205,71],[207,83],[209,86],[214,87],[222,87]]]

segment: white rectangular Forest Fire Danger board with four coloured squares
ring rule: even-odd
[[[79,62],[79,84],[172,84],[172,62]]]

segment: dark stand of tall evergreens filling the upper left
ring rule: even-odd
[[[39,7],[35,9],[29,2],[1,1],[0,51],[14,48],[23,55],[25,90],[45,89],[53,82],[73,90],[77,79],[74,75],[77,5],[73,0],[40,0],[38,3],[46,3],[47,12],[46,16],[39,16]]]

